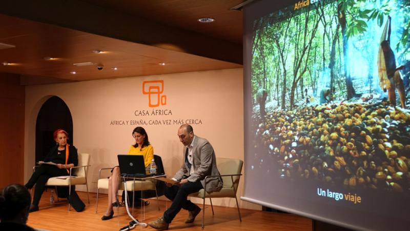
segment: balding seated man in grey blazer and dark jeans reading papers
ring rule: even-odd
[[[181,208],[189,211],[189,217],[185,222],[194,222],[201,209],[187,199],[188,195],[205,187],[206,176],[220,175],[216,167],[212,145],[206,139],[195,136],[191,125],[181,125],[178,129],[178,137],[184,145],[184,161],[173,179],[179,183],[167,184],[168,187],[165,189],[165,196],[172,201],[172,205],[163,213],[162,217],[148,223],[158,230],[168,229],[169,224]],[[222,184],[220,177],[209,178],[205,190],[207,192],[219,191]]]

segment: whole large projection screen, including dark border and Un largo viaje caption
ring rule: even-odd
[[[245,6],[243,200],[408,230],[409,27],[406,0]]]

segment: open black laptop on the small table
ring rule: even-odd
[[[118,155],[118,165],[121,176],[147,177],[145,172],[144,156],[142,155]]]

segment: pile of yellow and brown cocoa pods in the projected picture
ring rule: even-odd
[[[410,113],[376,104],[267,112],[255,127],[278,177],[410,192]]]

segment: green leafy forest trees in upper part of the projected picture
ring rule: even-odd
[[[324,3],[326,5],[322,5]],[[400,18],[394,15],[399,10]],[[343,70],[346,65],[343,59],[345,51],[342,41],[347,39],[354,44],[354,49],[363,51],[361,57],[368,61],[365,65],[374,64],[373,54],[378,48],[372,44],[379,42],[377,38],[374,38],[371,30],[375,27],[383,27],[388,15],[394,17],[397,22],[394,26],[401,33],[396,49],[400,49],[402,53],[410,52],[410,1],[408,0],[329,2],[323,0],[312,7],[310,12],[307,9],[301,9],[298,14],[295,14],[292,9],[290,11],[281,10],[280,13],[286,15],[280,21],[278,14],[271,14],[254,23],[258,29],[254,34],[252,47],[252,92],[255,95],[258,89],[266,88],[268,101],[280,101],[281,99],[278,98],[281,97],[281,91],[286,89],[286,104],[289,105],[289,91],[294,87],[294,76],[302,76],[300,81],[296,80],[296,84],[303,84],[303,87],[309,88],[310,91],[315,88],[317,90],[318,86],[323,84],[319,81],[320,76],[329,75],[333,41],[337,42],[332,67],[336,73],[335,81],[338,81],[336,86],[340,88],[337,91],[345,93],[344,83],[340,84],[344,82]],[[316,24],[318,20],[320,23]],[[345,33],[340,27],[337,30],[342,20],[345,20]],[[317,32],[313,34],[310,46],[307,46],[309,43],[306,44],[305,41],[310,40],[315,27],[317,27]],[[345,35],[344,38],[342,33]],[[309,49],[309,55],[303,56],[303,52]],[[297,64],[300,66],[297,67]],[[306,70],[305,67],[308,67],[308,71],[303,72]],[[300,91],[299,85],[296,90]]]

